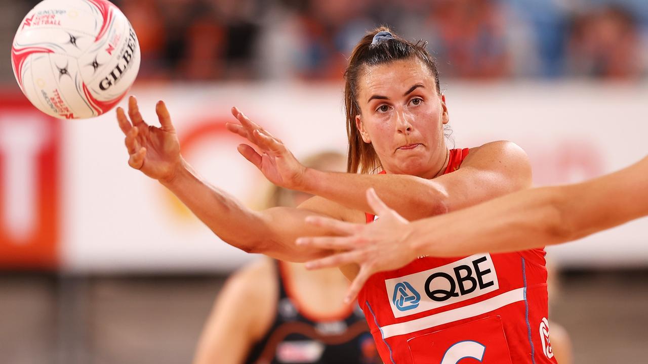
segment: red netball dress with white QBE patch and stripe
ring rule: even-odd
[[[459,169],[468,152],[451,150],[445,174]],[[373,220],[367,214],[367,223]],[[392,364],[556,363],[544,255],[531,249],[426,256],[376,273],[358,304],[380,357]]]

